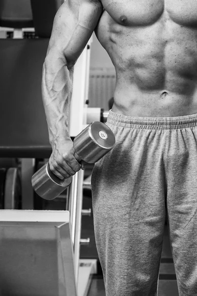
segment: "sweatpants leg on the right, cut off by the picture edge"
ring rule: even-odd
[[[179,296],[197,296],[197,127],[166,143],[167,216]]]

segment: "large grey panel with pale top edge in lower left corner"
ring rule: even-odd
[[[0,295],[81,295],[68,211],[0,211]]]

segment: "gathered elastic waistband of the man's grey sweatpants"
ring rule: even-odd
[[[110,110],[107,123],[137,129],[182,129],[197,126],[197,113],[174,117],[135,117]]]

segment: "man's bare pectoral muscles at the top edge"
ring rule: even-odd
[[[197,0],[102,0],[107,13],[125,26],[148,26],[164,12],[175,23],[197,27]]]

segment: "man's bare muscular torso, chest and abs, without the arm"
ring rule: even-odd
[[[95,33],[116,70],[112,111],[197,113],[197,1],[102,0]]]

